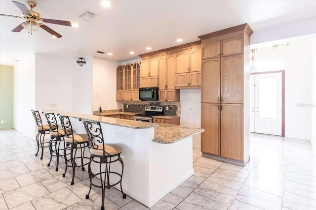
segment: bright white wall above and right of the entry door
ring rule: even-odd
[[[298,104],[311,103],[312,39],[290,42],[288,46],[257,49],[258,63],[273,61],[257,71],[285,69],[285,136],[311,139],[311,107]],[[264,61],[263,61],[264,60]]]

